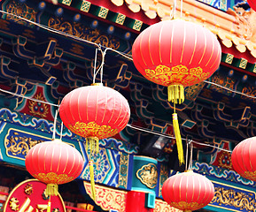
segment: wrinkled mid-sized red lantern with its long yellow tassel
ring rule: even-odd
[[[90,149],[92,196],[95,200],[91,155],[98,153],[98,140],[112,137],[126,127],[130,117],[128,101],[116,90],[95,83],[68,93],[60,104],[59,115],[71,132],[86,138],[87,150]]]

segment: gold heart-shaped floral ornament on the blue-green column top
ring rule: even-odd
[[[157,166],[153,163],[144,165],[141,169],[137,170],[136,177],[149,188],[154,188],[158,183]]]

